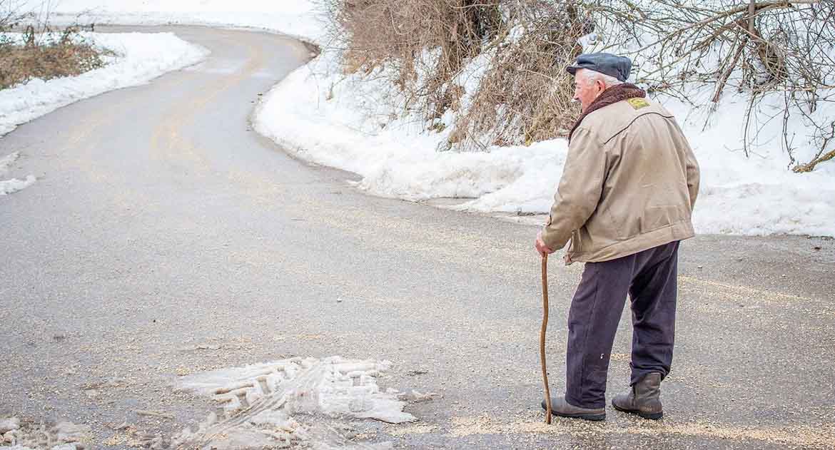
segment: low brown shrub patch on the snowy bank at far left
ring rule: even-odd
[[[77,31],[67,28],[53,42],[41,42],[32,27],[23,45],[0,45],[0,88],[9,88],[33,78],[58,78],[78,75],[104,65],[102,53],[91,44],[79,41]]]

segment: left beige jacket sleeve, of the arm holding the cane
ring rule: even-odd
[[[606,174],[603,144],[589,129],[574,131],[563,176],[554,195],[551,215],[542,230],[542,240],[559,250],[597,209]]]

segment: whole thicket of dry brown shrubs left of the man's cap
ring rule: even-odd
[[[347,73],[386,67],[402,98],[402,114],[419,114],[425,128],[452,110],[454,129],[442,149],[529,144],[564,135],[577,108],[564,67],[580,52],[590,23],[560,0],[330,0],[334,45]],[[490,52],[475,92],[460,75]],[[470,94],[464,110],[461,100]]]

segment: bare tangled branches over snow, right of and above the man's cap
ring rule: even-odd
[[[784,133],[790,165],[807,171],[832,159],[835,121],[814,113],[835,102],[835,0],[598,0],[585,8],[609,31],[606,42],[631,45],[639,81],[650,89],[687,99],[686,85],[713,83],[713,104],[729,88],[748,94],[746,154],[765,126],[757,126],[760,102],[782,94],[783,129],[800,116],[818,149],[807,164],[798,164],[792,137]]]

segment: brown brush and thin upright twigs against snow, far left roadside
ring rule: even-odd
[[[105,52],[87,42],[78,28],[53,32],[48,24],[35,24],[12,7],[8,0],[0,0],[0,89],[104,66]]]

